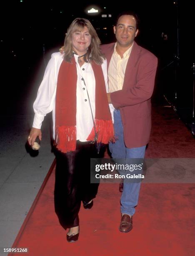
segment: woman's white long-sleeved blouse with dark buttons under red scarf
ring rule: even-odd
[[[95,118],[95,77],[90,63],[84,63],[82,67],[80,67],[78,63],[78,56],[74,55],[74,57],[77,66],[77,140],[86,141],[93,128],[93,120],[87,91],[90,97],[93,118]],[[55,138],[55,95],[57,76],[62,60],[63,55],[60,54],[60,52],[52,54],[51,59],[45,69],[44,77],[38,89],[37,98],[33,104],[35,117],[32,127],[34,128],[40,129],[45,115],[52,111],[53,138]],[[106,91],[108,91],[106,59],[102,64],[102,71],[104,74]],[[87,90],[82,78],[85,80]],[[96,79],[98,79],[98,77],[96,77]]]

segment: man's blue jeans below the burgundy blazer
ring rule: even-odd
[[[115,143],[109,143],[112,158],[144,158],[146,146],[142,146],[140,148],[127,148],[125,146],[120,110],[114,110],[114,129],[117,140]],[[124,179],[123,192],[120,198],[121,213],[129,214],[131,216],[135,213],[135,206],[138,204],[139,193],[140,182],[130,183],[127,181],[127,179]]]

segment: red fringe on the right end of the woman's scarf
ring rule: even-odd
[[[114,138],[114,128],[112,120],[99,120],[95,119],[95,130],[97,132],[97,142],[107,144],[110,141],[115,142]],[[87,141],[93,141],[95,137],[94,127],[90,135],[87,138]]]

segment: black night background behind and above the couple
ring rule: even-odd
[[[87,8],[92,6],[97,6],[100,13],[87,14]],[[0,9],[3,115],[33,113],[32,103],[45,65],[51,53],[63,45],[73,19],[88,18],[105,44],[115,41],[113,26],[117,14],[134,10],[141,21],[136,41],[159,59],[155,94],[165,95],[183,118],[191,118],[195,62],[193,1],[15,0],[2,1]],[[112,17],[102,18],[102,14]],[[168,40],[163,40],[162,32]]]

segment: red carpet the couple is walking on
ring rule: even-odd
[[[147,158],[194,158],[194,142],[171,108],[154,108]],[[142,184],[130,233],[118,230],[118,184],[100,184],[93,208],[81,207],[79,241],[69,244],[54,212],[53,167],[13,247],[32,256],[194,255],[195,184]]]

